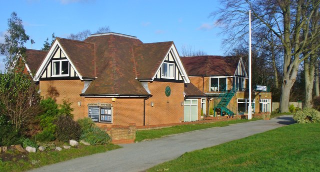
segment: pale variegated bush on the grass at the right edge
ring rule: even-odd
[[[320,123],[320,112],[312,108],[304,108],[293,115],[297,123]]]

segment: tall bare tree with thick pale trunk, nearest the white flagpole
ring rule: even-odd
[[[302,34],[302,27],[309,25],[320,3],[319,0],[223,0],[223,7],[211,13],[218,16],[217,22],[223,23],[224,30],[229,33],[229,42],[244,39],[248,25],[248,10],[252,11],[253,31],[260,26],[267,27],[283,47],[283,71],[281,82],[281,98],[279,112],[288,112],[290,90],[296,80],[299,64],[320,47],[320,44],[310,48],[301,57],[319,33],[309,36]],[[309,6],[309,11],[303,13],[302,5]]]

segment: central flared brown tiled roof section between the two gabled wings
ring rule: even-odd
[[[132,46],[141,45],[140,40],[111,34],[91,36],[84,41],[95,45],[97,78],[83,95],[148,94],[135,79]]]

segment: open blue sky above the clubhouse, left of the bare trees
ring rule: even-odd
[[[41,49],[53,32],[67,37],[109,26],[112,32],[136,36],[144,43],[173,41],[179,52],[184,45],[223,55],[223,37],[217,35],[220,28],[209,17],[219,6],[218,0],[1,0],[1,6],[1,43],[7,19],[15,11],[35,42],[32,49]],[[31,48],[30,40],[25,46]]]

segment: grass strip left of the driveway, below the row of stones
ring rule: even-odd
[[[0,172],[22,172],[30,169],[39,168],[50,164],[55,164],[78,157],[84,157],[92,154],[103,153],[120,146],[108,144],[97,146],[79,145],[78,148],[62,149],[61,151],[48,151],[36,153],[19,153],[17,151],[8,151],[6,155],[0,155]],[[4,157],[10,157],[10,161],[5,161]]]

